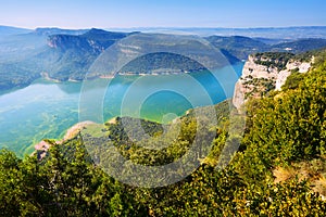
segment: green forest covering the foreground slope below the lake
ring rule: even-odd
[[[101,137],[79,133],[62,144],[49,140],[53,145],[41,159],[1,150],[0,216],[325,216],[325,99],[326,52],[319,52],[313,68],[293,73],[283,91],[247,102],[243,139],[225,168],[216,165],[229,137],[229,101],[214,106],[217,125],[204,126],[216,133],[204,158],[198,150],[200,166],[160,188],[115,180],[97,166],[85,144],[113,144],[137,164],[165,165],[187,153],[195,135],[205,137],[195,115],[200,111],[196,114],[204,120],[205,107],[183,116],[178,137],[160,151],[130,140],[124,118],[106,123]],[[166,126],[148,120],[141,126],[153,138],[141,142],[168,141],[159,137]]]

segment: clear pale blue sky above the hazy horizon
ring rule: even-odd
[[[326,26],[325,0],[0,0],[18,27]]]

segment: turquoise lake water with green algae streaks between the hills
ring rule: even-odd
[[[8,148],[22,156],[32,153],[34,144],[45,138],[61,139],[70,127],[87,119],[87,115],[79,112],[80,107],[84,108],[80,99],[87,94],[104,93],[103,106],[100,107],[102,119],[90,117],[90,120],[103,122],[121,115],[155,122],[172,120],[191,107],[211,104],[206,101],[208,95],[214,104],[231,97],[242,66],[239,63],[214,72],[214,75],[203,72],[92,80],[87,89],[83,82],[38,80],[24,89],[0,95],[0,148]],[[233,69],[236,76],[230,75],[235,74],[230,72]],[[86,110],[93,114],[96,107],[89,102]]]

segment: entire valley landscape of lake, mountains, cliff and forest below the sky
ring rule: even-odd
[[[325,28],[134,30],[0,27],[0,215],[325,215]]]

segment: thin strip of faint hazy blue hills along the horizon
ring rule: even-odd
[[[89,29],[61,29],[61,28],[38,28],[37,31],[47,33],[47,35],[68,34],[78,35]],[[108,31],[141,31],[141,33],[164,33],[164,34],[195,34],[202,37],[208,36],[246,36],[250,38],[268,39],[301,39],[301,38],[324,38],[326,39],[326,26],[294,26],[294,27],[260,27],[260,28],[213,28],[213,27],[137,27],[137,28],[108,28]],[[1,35],[26,34],[34,29],[17,28],[0,25]]]

